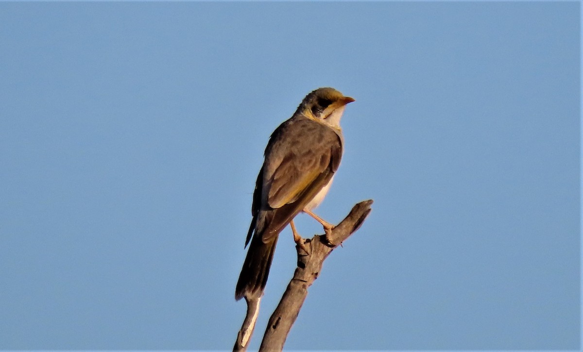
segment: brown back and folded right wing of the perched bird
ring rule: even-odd
[[[268,242],[330,181],[342,157],[332,128],[307,118],[286,121],[265,151],[261,210],[262,240]]]

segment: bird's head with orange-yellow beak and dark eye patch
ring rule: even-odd
[[[333,88],[318,88],[305,96],[296,114],[310,119],[324,121],[327,125],[339,127],[345,105],[354,101]]]

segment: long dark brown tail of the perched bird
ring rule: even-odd
[[[253,237],[237,281],[236,300],[240,300],[243,297],[261,297],[267,283],[278,237],[273,236],[268,243],[264,243],[261,240],[261,236],[257,234]]]

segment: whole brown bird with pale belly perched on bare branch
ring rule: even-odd
[[[333,225],[312,209],[324,199],[340,165],[344,145],[340,118],[353,101],[336,89],[318,88],[271,134],[255,182],[245,247],[251,244],[237,281],[236,300],[261,298],[279,233],[287,224],[296,244],[303,247],[293,223],[298,213],[314,217],[326,234],[332,230]]]

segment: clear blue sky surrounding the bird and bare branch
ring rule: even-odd
[[[231,349],[251,195],[356,98],[289,349],[579,349],[580,2],[0,3],[0,349]],[[304,237],[321,233],[301,214]],[[257,348],[295,267],[283,231]]]

